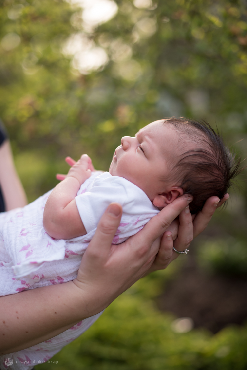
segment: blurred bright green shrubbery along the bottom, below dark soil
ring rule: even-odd
[[[145,280],[145,279],[144,279]],[[152,277],[160,285],[164,276]],[[128,290],[86,333],[37,370],[245,370],[247,326],[216,335],[204,330],[177,334],[174,317]]]

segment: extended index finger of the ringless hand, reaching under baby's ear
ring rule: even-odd
[[[163,234],[169,227],[170,223],[179,215],[181,211],[191,202],[192,198],[188,195],[175,199],[172,203],[163,208],[154,216],[139,232],[139,244],[151,245],[154,240]]]

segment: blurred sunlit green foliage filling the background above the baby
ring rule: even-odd
[[[245,3],[117,4],[112,20],[85,33],[80,8],[65,1],[1,0],[0,115],[16,158],[26,152],[35,171],[37,157],[46,166],[26,185],[30,200],[56,184],[66,155],[87,152],[107,170],[120,138],[158,118],[206,118],[231,144],[246,137]],[[71,68],[62,49],[78,33],[109,55],[102,71]]]

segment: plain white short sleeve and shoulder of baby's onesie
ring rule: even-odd
[[[134,235],[159,211],[138,186],[123,177],[109,172],[94,179],[91,189],[76,197],[76,205],[84,227],[89,233],[97,224],[111,202],[123,207],[119,233],[124,228],[126,237]],[[129,235],[130,234],[130,235]]]

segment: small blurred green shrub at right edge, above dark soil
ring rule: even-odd
[[[208,240],[198,252],[200,265],[227,276],[247,276],[247,243],[230,236]]]

